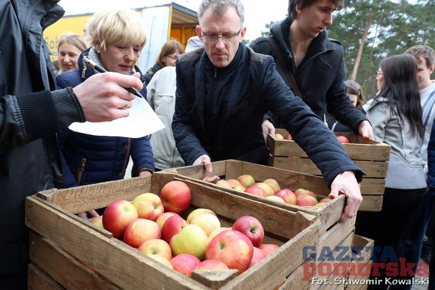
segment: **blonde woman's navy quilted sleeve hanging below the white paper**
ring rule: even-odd
[[[131,159],[138,176],[143,170],[155,171],[153,150],[151,149],[150,139],[148,136],[141,138],[131,138]]]

